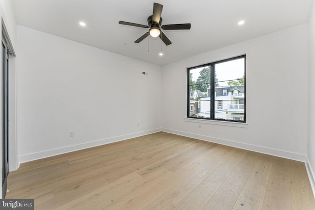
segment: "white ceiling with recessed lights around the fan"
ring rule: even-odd
[[[164,65],[261,35],[307,23],[314,0],[12,0],[17,24],[120,55]],[[148,37],[153,2],[162,4],[162,25],[191,23],[190,30],[164,30],[172,44]],[[243,26],[238,22],[244,20]],[[87,26],[79,26],[84,21]],[[162,48],[164,55],[158,55]],[[148,52],[148,50],[150,52]]]

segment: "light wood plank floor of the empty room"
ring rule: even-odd
[[[24,163],[8,189],[35,210],[315,210],[303,162],[163,132]]]

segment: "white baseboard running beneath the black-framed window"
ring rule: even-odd
[[[294,152],[289,152],[289,151],[284,151],[284,150],[275,150],[272,148],[266,148],[266,147],[261,147],[261,146],[256,146],[256,145],[250,145],[250,144],[244,144],[240,142],[235,142],[235,141],[230,141],[226,139],[220,139],[220,138],[215,138],[211,136],[204,136],[200,134],[195,134],[195,133],[189,133],[189,132],[184,132],[184,131],[178,131],[178,130],[172,130],[172,129],[167,129],[167,128],[162,128],[163,132],[167,133],[173,133],[181,136],[186,136],[194,139],[199,139],[199,140],[204,140],[208,142],[213,142],[221,145],[226,145],[234,148],[240,148],[244,150],[250,150],[250,151],[255,151],[259,153],[264,153],[264,154],[270,154],[273,156],[277,157],[284,157],[287,159],[291,160],[297,160],[301,162],[306,161],[306,155],[304,154],[298,154]]]

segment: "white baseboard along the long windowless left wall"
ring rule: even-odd
[[[97,140],[97,141],[93,141],[93,142],[87,142],[87,143],[78,144],[78,145],[71,145],[68,147],[57,148],[57,149],[53,149],[53,150],[45,150],[45,151],[40,151],[40,152],[36,152],[36,153],[21,155],[18,157],[19,166],[20,166],[20,163],[29,162],[32,160],[38,160],[38,159],[42,159],[45,157],[51,157],[51,156],[55,156],[55,155],[59,155],[59,154],[63,154],[63,153],[71,152],[71,151],[83,150],[83,149],[87,149],[87,148],[97,147],[100,145],[124,141],[126,139],[131,139],[131,138],[135,138],[135,137],[139,137],[139,136],[157,133],[159,131],[161,131],[161,128],[156,128],[156,129],[146,130],[146,131],[141,131],[141,132],[136,132],[136,133],[130,133],[130,134],[126,134],[126,135],[116,136],[116,137],[107,138],[107,139],[101,139],[101,140]]]

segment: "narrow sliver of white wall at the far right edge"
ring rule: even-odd
[[[309,21],[309,150],[311,185],[315,195],[315,3]]]

